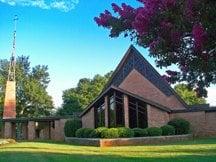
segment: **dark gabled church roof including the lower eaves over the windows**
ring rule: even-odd
[[[100,95],[83,111],[81,116],[83,116],[104,94],[106,94],[111,89],[118,90],[120,92],[126,93],[131,96],[135,96],[150,105],[156,106],[167,112],[171,110],[165,106],[157,104],[153,101],[147,100],[136,94],[132,94],[125,90],[120,89],[118,86],[124,81],[124,79],[129,75],[129,73],[136,69],[140,74],[142,74],[146,79],[148,79],[153,85],[155,85],[161,92],[166,96],[174,95],[184,107],[188,105],[181,99],[181,97],[170,87],[170,85],[160,76],[160,74],[154,69],[154,67],[142,56],[142,54],[137,51],[137,49],[131,45],[127,50],[126,54],[118,64],[117,68],[113,72],[107,85],[100,93]]]

